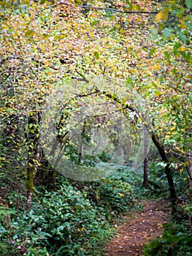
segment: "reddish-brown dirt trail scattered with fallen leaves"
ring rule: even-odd
[[[142,200],[141,203],[145,205],[143,211],[123,217],[117,236],[107,244],[107,256],[142,256],[145,244],[163,233],[163,224],[171,214],[167,202]]]

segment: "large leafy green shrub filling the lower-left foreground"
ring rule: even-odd
[[[7,255],[94,255],[112,234],[109,223],[71,185],[45,192],[30,211],[3,230]],[[10,240],[11,239],[11,240]],[[12,241],[10,243],[10,241]]]

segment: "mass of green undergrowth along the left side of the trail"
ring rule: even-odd
[[[115,233],[114,219],[134,206],[141,182],[138,173],[133,176],[118,170],[83,186],[61,178],[55,189],[37,188],[30,209],[23,212],[13,203],[7,211],[11,218],[9,225],[1,222],[0,255],[104,255],[101,248]]]

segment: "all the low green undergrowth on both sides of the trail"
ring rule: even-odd
[[[6,197],[9,208],[0,208],[0,255],[106,255],[102,248],[114,236],[118,217],[139,208],[141,198],[168,197],[167,192],[164,172],[154,165],[148,189],[142,189],[142,171],[122,167],[100,181],[80,183],[58,176],[51,189],[36,187],[28,209],[18,207],[25,192],[12,191]],[[191,209],[191,202],[182,200],[164,234],[146,245],[145,256],[192,255]]]

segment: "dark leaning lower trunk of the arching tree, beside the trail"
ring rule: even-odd
[[[165,173],[166,173],[166,178],[169,184],[169,192],[170,192],[170,197],[172,200],[172,206],[175,206],[176,201],[177,201],[177,195],[174,189],[174,182],[173,182],[173,178],[172,178],[172,170],[169,167],[169,160],[166,157],[166,153],[164,150],[164,146],[161,145],[161,143],[159,143],[158,138],[153,134],[152,135],[152,140],[153,143],[155,144],[155,146],[158,148],[159,154],[161,155],[161,159],[162,161],[164,161],[164,163],[166,164],[165,167]]]

